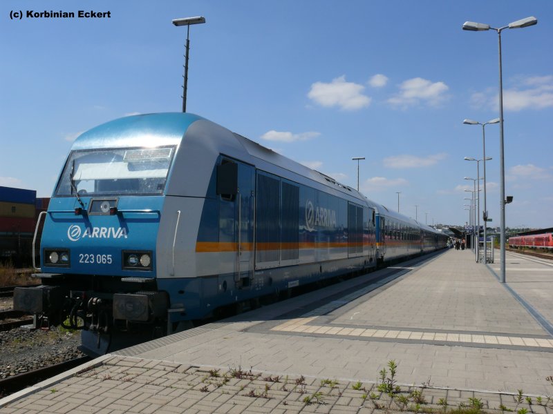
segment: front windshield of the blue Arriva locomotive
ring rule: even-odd
[[[72,151],[56,195],[163,194],[174,152],[174,146]]]

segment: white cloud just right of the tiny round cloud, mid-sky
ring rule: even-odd
[[[449,87],[444,82],[431,82],[420,77],[407,79],[400,85],[400,92],[388,99],[388,103],[406,107],[424,102],[438,106],[446,99],[447,90]]]

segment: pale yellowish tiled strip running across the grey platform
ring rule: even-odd
[[[388,329],[345,328],[343,326],[310,325],[317,317],[290,319],[271,328],[271,331],[317,333],[321,335],[341,335],[351,337],[373,337],[386,339],[410,339],[431,342],[457,342],[465,344],[490,344],[532,346],[532,348],[553,348],[553,339],[528,338],[521,336],[497,336],[469,333],[443,333],[420,331],[396,331]]]

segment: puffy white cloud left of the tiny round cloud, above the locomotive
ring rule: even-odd
[[[371,103],[371,98],[362,93],[364,88],[359,83],[346,82],[346,75],[342,75],[330,83],[313,83],[307,96],[327,108],[338,106],[342,110],[357,110]]]

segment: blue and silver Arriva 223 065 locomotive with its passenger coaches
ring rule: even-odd
[[[91,355],[448,239],[189,113],[80,135],[39,228],[42,284],[14,308],[82,329]]]

